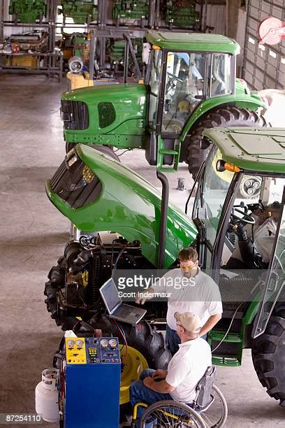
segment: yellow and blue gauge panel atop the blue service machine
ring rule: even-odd
[[[120,363],[117,337],[66,337],[66,364]]]

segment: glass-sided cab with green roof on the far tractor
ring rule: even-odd
[[[235,94],[238,43],[224,36],[155,33],[145,84],[149,89],[148,125],[162,137],[179,136],[201,101]]]

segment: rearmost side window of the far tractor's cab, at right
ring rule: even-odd
[[[212,55],[211,97],[231,94],[231,55]]]

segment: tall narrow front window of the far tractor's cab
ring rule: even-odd
[[[153,50],[149,56],[149,80],[146,84],[149,86],[149,125],[155,127],[156,112],[159,94],[159,82],[161,79],[162,51]]]

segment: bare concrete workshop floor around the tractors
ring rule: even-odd
[[[34,388],[62,336],[45,310],[43,289],[68,241],[69,222],[45,195],[45,180],[65,154],[59,99],[66,87],[43,76],[0,75],[0,413],[35,412]],[[159,186],[143,152],[135,167],[132,152],[121,159]],[[186,166],[170,176],[171,199],[183,206],[187,192],[175,190],[180,176],[191,187]],[[217,385],[228,401],[226,427],[284,426],[285,409],[258,382],[249,350],[240,368],[218,368]]]

